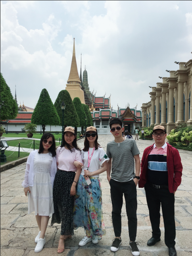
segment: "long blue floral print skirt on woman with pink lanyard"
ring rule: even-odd
[[[74,229],[84,227],[86,235],[92,239],[102,239],[106,234],[102,212],[102,192],[100,180],[91,177],[88,186],[80,175],[73,209]]]

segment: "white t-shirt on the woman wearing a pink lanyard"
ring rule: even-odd
[[[89,148],[89,157],[91,156],[92,151],[93,151],[93,148]],[[83,150],[81,150],[81,156],[82,156],[82,162],[83,162],[81,175],[84,175],[84,169],[87,169],[87,166],[88,166],[88,151],[84,152]],[[88,170],[91,171],[91,172],[97,171],[98,169],[100,169],[101,165],[105,161],[108,162],[109,158],[106,155],[106,152],[104,151],[104,149],[98,147],[97,150],[94,150],[94,153],[92,155],[90,166],[89,166]],[[99,177],[99,174],[94,175],[92,177]]]

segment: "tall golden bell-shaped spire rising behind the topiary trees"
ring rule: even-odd
[[[75,38],[74,38],[74,42],[73,42],[73,56],[72,56],[72,62],[71,62],[71,70],[69,73],[69,79],[67,80],[65,90],[67,90],[69,92],[72,100],[75,97],[78,97],[78,98],[80,98],[81,103],[85,104],[84,91],[81,89],[81,81],[79,79],[79,73],[77,70],[77,62],[76,62],[76,58],[75,58]]]

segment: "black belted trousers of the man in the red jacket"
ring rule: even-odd
[[[163,213],[165,227],[165,244],[168,248],[175,246],[175,195],[169,189],[156,189],[149,183],[145,185],[147,205],[152,225],[152,237],[158,239],[161,236],[160,205]]]

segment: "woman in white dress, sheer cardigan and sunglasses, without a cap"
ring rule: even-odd
[[[50,214],[54,213],[53,183],[57,171],[56,144],[54,135],[45,133],[40,140],[39,150],[29,154],[22,183],[28,196],[28,214],[35,212],[39,233],[35,238],[35,252],[40,252],[45,244],[45,232]]]

